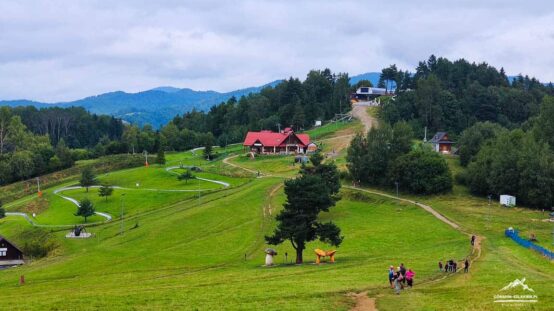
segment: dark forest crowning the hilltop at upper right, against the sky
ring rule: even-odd
[[[427,127],[457,137],[485,121],[513,129],[539,113],[544,95],[554,95],[551,83],[522,75],[511,80],[502,68],[433,55],[413,74],[393,65],[383,69],[383,77],[394,82],[397,96],[383,105],[382,119],[391,124],[407,121],[418,136]]]

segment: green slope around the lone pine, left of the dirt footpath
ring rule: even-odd
[[[280,182],[262,179],[229,194],[206,195],[200,204],[195,199],[138,216],[124,224],[123,236],[117,235],[119,224],[112,223],[92,228],[97,237],[91,240],[61,239],[64,256],[0,273],[3,301],[22,309],[62,303],[83,309],[126,309],[129,304],[219,309],[221,301],[231,309],[346,308],[343,294],[383,286],[389,264],[402,261],[422,278],[431,277],[436,272],[430,258],[468,251],[465,237],[418,208],[372,197],[350,200],[345,193],[326,215],[346,236],[336,265],[262,268],[262,237],[273,225],[263,208],[270,203],[276,208],[284,196],[281,190],[270,202],[260,193],[268,194]],[[129,229],[136,222],[139,228]],[[432,233],[443,237],[440,243]],[[329,248],[310,244],[308,261],[315,247]],[[277,262],[283,252],[292,254],[286,244],[277,249]],[[20,274],[27,279],[24,287],[16,285]]]

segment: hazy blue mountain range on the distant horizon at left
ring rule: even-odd
[[[249,93],[258,93],[262,88],[275,86],[279,82],[281,80],[226,93],[159,87],[139,93],[110,92],[53,104],[29,100],[0,101],[0,106],[34,106],[36,108],[77,106],[92,113],[112,115],[139,126],[150,124],[154,128],[159,128],[177,114],[193,109],[207,111],[212,106],[227,101],[231,97],[240,98]]]

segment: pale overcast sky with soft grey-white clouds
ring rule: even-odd
[[[430,54],[554,81],[554,1],[451,2],[2,0],[0,99],[229,91]]]

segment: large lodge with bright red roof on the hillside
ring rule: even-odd
[[[287,127],[280,133],[272,131],[248,132],[242,145],[250,148],[250,151],[254,153],[288,154],[305,153],[309,144],[310,136],[308,134],[296,134],[291,128]]]

